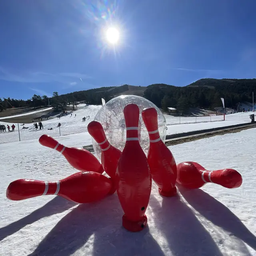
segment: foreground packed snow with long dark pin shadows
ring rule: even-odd
[[[256,129],[214,136],[169,147],[176,162],[195,161],[208,170],[234,168],[240,188],[206,184],[179,188],[163,198],[152,185],[148,227],[131,233],[122,228],[117,194],[92,204],[59,196],[23,201],[6,198],[19,178],[55,181],[77,172],[59,152],[38,140],[0,145],[0,255],[4,256],[256,256]],[[82,147],[84,133],[62,136],[66,146]]]

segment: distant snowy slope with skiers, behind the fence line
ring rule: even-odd
[[[87,132],[87,125],[90,121],[94,120],[98,110],[101,106],[94,105],[86,105],[80,104],[78,105],[78,109],[67,116],[62,116],[60,119],[55,117],[50,120],[42,121],[44,126],[43,130],[35,130],[33,124],[25,124],[24,127],[28,127],[28,129],[22,129],[23,126],[20,124],[20,140],[32,140],[38,139],[42,134],[48,134],[53,137],[63,136],[68,134],[76,134],[85,132],[84,136],[90,139],[90,134]],[[249,114],[254,112],[243,112],[237,114],[226,115],[226,120],[223,121],[223,116],[202,116],[202,117],[174,117],[169,115],[164,115],[166,118],[166,124],[168,130],[166,134],[176,134],[181,132],[190,132],[194,130],[204,130],[208,128],[216,128],[223,126],[230,126],[234,124],[242,124],[249,123],[250,118]],[[75,116],[76,115],[76,116]],[[82,118],[86,116],[90,116],[90,119],[86,119],[85,122],[82,122]],[[212,122],[210,122],[212,121]],[[60,131],[57,128],[58,123],[61,123]],[[196,122],[196,123],[195,123]],[[181,123],[181,124],[179,124]],[[8,123],[0,122],[0,124],[5,124],[7,126]],[[175,124],[175,125],[174,125]],[[9,124],[10,126],[12,123]],[[6,132],[0,133],[0,144],[19,141],[18,135],[18,125],[16,126],[15,132]],[[48,130],[53,128],[53,130]],[[7,129],[6,129],[7,130]],[[87,139],[86,139],[87,140]]]

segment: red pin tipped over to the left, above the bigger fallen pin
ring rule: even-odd
[[[66,160],[79,171],[104,172],[102,164],[91,152],[84,148],[66,147],[49,135],[42,135],[39,143],[48,148],[53,148],[66,158]]]

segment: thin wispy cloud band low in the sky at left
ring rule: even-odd
[[[74,79],[91,79],[91,76],[81,73],[46,73],[46,72],[11,72],[0,67],[0,80],[21,83],[60,82],[71,84]]]

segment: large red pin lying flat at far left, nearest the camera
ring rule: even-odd
[[[15,180],[8,186],[6,197],[17,201],[36,196],[58,195],[82,204],[104,198],[111,189],[112,182],[106,176],[97,172],[77,172],[55,182]]]

